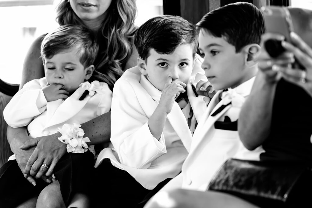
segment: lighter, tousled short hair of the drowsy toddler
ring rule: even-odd
[[[62,51],[76,48],[80,55],[80,63],[88,67],[95,62],[99,47],[95,36],[86,27],[80,25],[64,25],[49,32],[41,42],[41,57],[51,58]]]

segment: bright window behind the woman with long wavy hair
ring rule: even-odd
[[[26,53],[40,35],[58,27],[55,8],[60,0],[0,0],[0,78],[19,84]],[[163,14],[162,0],[137,0],[140,26]]]

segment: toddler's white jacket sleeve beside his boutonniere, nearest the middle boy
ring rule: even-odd
[[[100,116],[103,113],[106,113],[110,111],[110,107],[112,104],[112,91],[108,87],[108,85],[104,82],[100,82],[103,86],[102,88],[102,94],[101,94],[101,100],[99,102],[99,105],[97,107],[96,115]]]

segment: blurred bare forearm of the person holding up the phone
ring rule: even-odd
[[[238,132],[244,146],[254,150],[270,133],[275,83],[268,83],[258,74],[251,94],[241,108]]]

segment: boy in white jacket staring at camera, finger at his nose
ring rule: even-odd
[[[182,17],[154,17],[136,32],[138,66],[127,70],[113,90],[114,149],[102,150],[95,164],[99,176],[115,186],[100,193],[112,204],[105,198],[99,206],[134,207],[181,171],[207,105],[191,86],[207,81],[203,70],[193,67],[197,43],[195,26]]]

